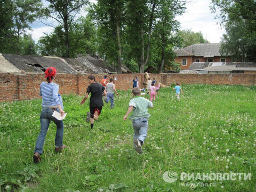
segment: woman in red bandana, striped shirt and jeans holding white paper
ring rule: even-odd
[[[36,141],[36,147],[33,156],[34,163],[41,162],[40,155],[43,153],[44,140],[51,120],[57,126],[55,135],[55,151],[60,152],[66,147],[62,143],[64,128],[63,120],[58,120],[52,116],[54,111],[59,112],[61,116],[63,116],[65,113],[61,108],[58,97],[59,85],[52,82],[55,79],[56,73],[57,71],[54,67],[47,68],[45,71],[46,81],[42,82],[40,85],[40,95],[42,96],[42,112],[40,115],[41,131]]]

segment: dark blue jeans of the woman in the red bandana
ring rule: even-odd
[[[49,107],[42,108],[42,112],[40,115],[41,131],[36,140],[36,147],[35,147],[34,153],[35,152],[38,152],[40,154],[43,153],[44,140],[45,140],[51,120],[57,126],[57,131],[55,135],[55,147],[61,147],[63,145],[62,143],[63,130],[64,130],[63,120],[58,120],[52,116],[54,110],[59,112],[58,108],[49,108]]]

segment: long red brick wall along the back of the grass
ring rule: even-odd
[[[256,74],[149,74],[165,85],[179,82],[181,84],[242,84],[255,85]],[[94,75],[99,83],[104,74]],[[144,74],[112,74],[108,79],[116,77],[116,89],[129,90],[133,85],[133,78],[139,78],[140,87],[143,88]],[[84,95],[87,89],[88,74],[57,74],[55,82],[60,86],[60,94]],[[40,98],[39,88],[44,81],[44,74],[5,74],[0,73],[0,102],[13,100],[26,100]]]

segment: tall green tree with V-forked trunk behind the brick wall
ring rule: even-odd
[[[130,0],[126,9],[126,41],[130,57],[138,63],[140,73],[150,59],[151,34],[154,28],[157,0]]]

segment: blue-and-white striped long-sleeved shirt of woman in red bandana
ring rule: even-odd
[[[56,83],[42,82],[40,85],[40,95],[43,98],[42,106],[49,107],[59,105],[59,85]]]

